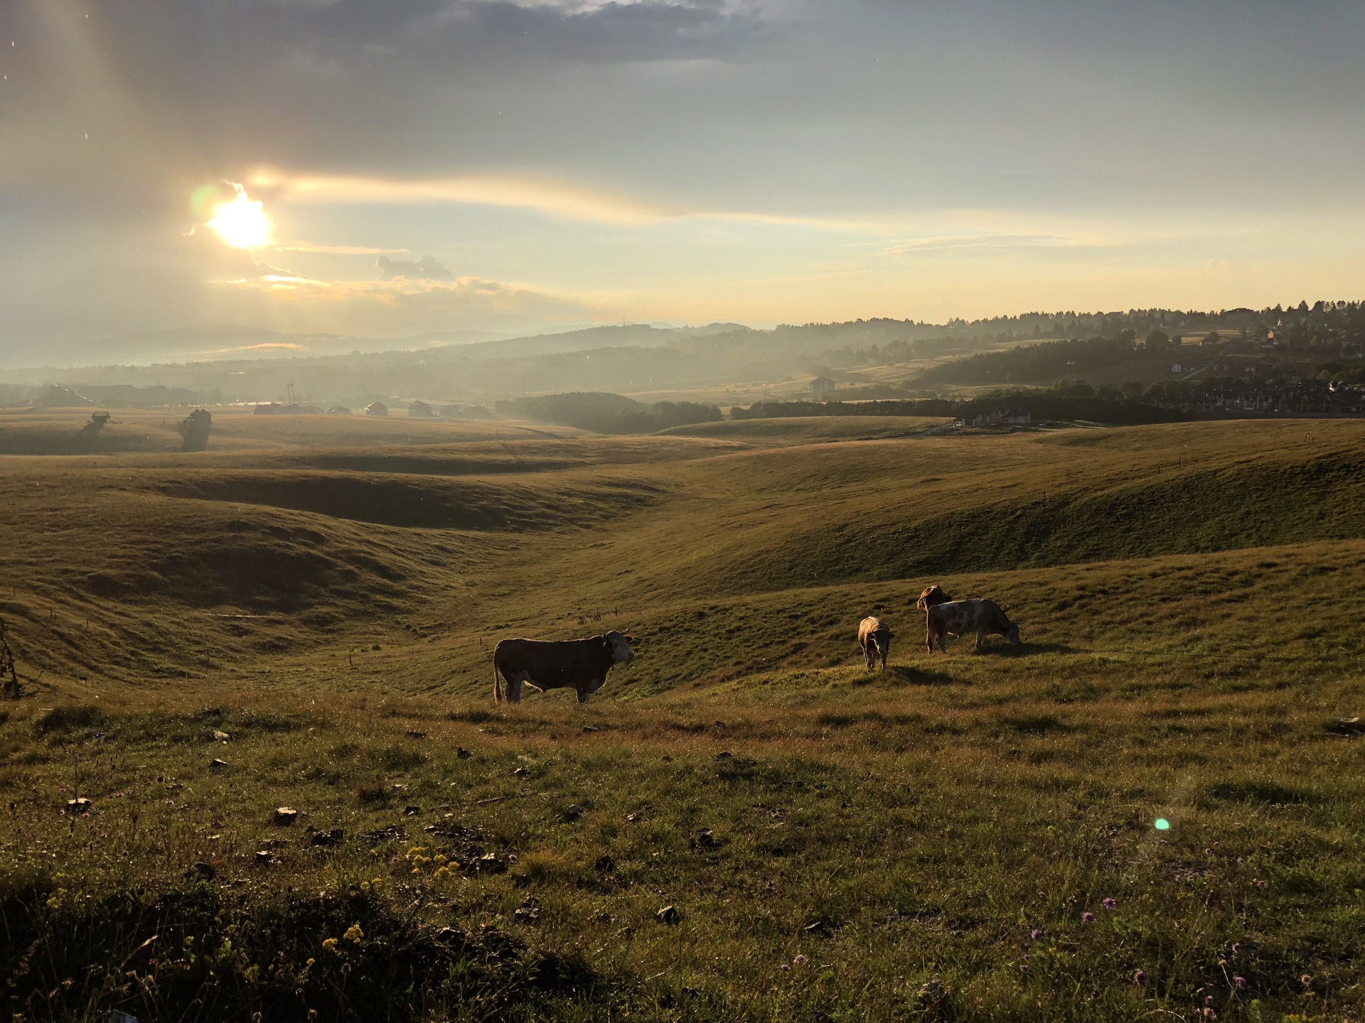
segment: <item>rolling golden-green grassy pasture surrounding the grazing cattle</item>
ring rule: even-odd
[[[1365,1012],[1365,424],[87,417],[0,417],[8,1018]]]

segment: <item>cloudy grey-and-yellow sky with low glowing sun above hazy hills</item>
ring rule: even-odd
[[[5,0],[0,364],[1360,299],[1362,50],[1358,0]]]

